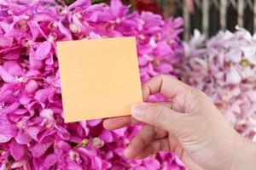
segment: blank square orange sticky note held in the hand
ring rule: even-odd
[[[130,114],[142,102],[134,37],[57,42],[65,122]]]

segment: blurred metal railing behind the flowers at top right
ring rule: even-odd
[[[183,38],[188,40],[194,29],[211,37],[218,30],[234,31],[235,26],[256,31],[256,0],[154,0],[165,16],[182,16]],[[188,7],[192,2],[194,10]],[[191,3],[190,3],[191,4]]]

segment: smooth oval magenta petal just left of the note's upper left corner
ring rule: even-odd
[[[51,49],[51,42],[45,41],[40,43],[34,56],[35,59],[38,59],[38,60],[46,59],[48,57],[50,49]]]

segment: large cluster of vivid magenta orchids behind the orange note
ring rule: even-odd
[[[51,0],[0,2],[0,169],[184,168],[172,153],[125,159],[123,149],[140,127],[65,124],[55,55],[57,41],[134,36],[142,81],[174,74],[183,20],[129,14],[119,0],[109,6],[78,0],[68,7]]]

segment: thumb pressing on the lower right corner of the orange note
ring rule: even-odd
[[[131,106],[131,116],[140,122],[145,122],[166,131],[177,133],[181,130],[185,116],[172,111],[164,105],[139,103]]]

